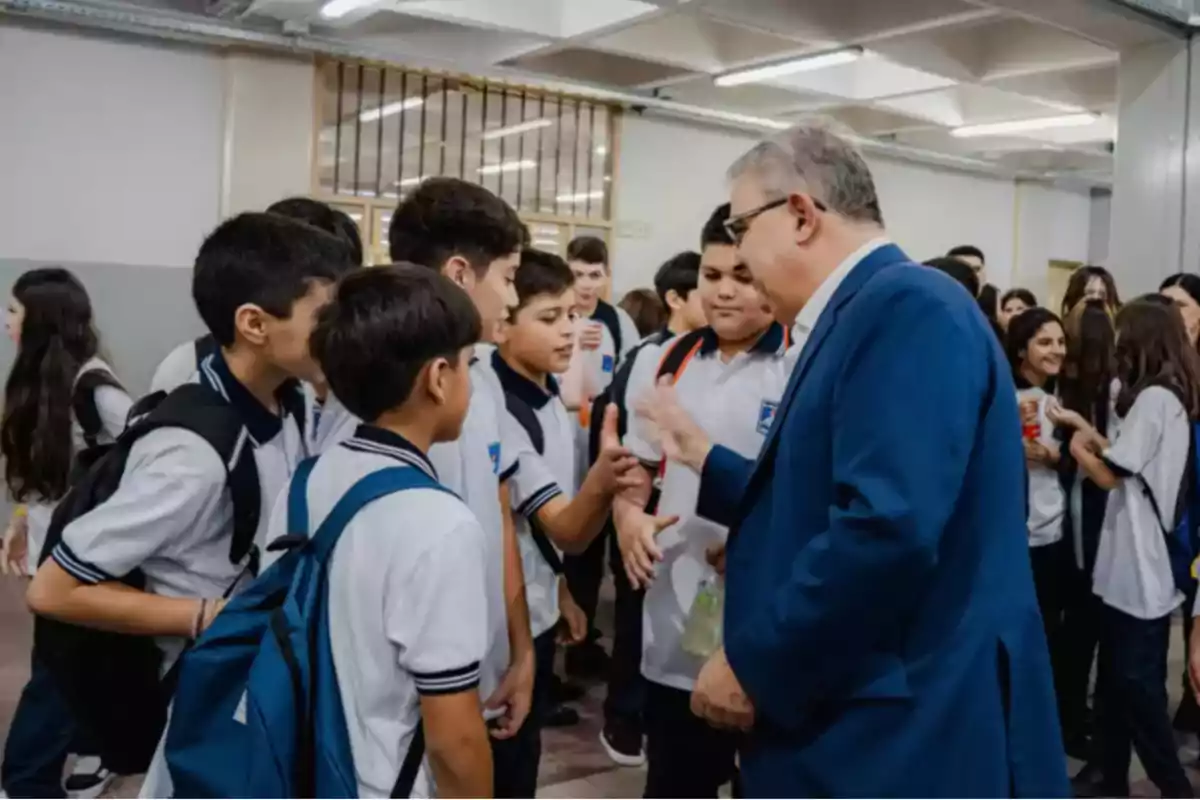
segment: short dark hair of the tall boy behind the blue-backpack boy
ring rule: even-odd
[[[388,229],[392,263],[440,270],[460,255],[478,275],[520,251],[527,236],[508,203],[457,178],[424,181],[400,201]]]

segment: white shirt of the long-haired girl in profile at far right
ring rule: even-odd
[[[1192,426],[1180,399],[1162,386],[1144,389],[1116,421],[1104,461],[1121,477],[1109,493],[1092,589],[1108,606],[1138,619],[1160,619],[1183,602],[1175,588],[1163,525],[1174,525]],[[1159,519],[1142,491],[1150,485]]]

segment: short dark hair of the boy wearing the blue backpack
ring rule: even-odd
[[[337,399],[371,422],[408,401],[425,365],[457,362],[480,331],[474,302],[452,281],[396,264],[348,275],[322,308],[311,347]]]

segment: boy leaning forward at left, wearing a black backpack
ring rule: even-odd
[[[232,409],[244,446],[227,463],[214,444],[182,427],[133,439],[120,485],[66,524],[38,569],[28,595],[35,613],[155,637],[161,674],[168,672],[252,571],[254,542],[234,555],[240,518],[232,476],[248,469],[257,495],[274,498],[306,456],[296,379],[319,375],[308,335],[332,283],[352,266],[334,236],[277,215],[244,213],[209,235],[192,296],[220,349],[193,383],[208,390],[199,395]],[[256,542],[266,527],[258,510],[240,509],[259,523]],[[134,572],[144,578],[142,591],[120,583]]]

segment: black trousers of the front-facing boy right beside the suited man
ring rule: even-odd
[[[647,798],[715,798],[734,778],[739,736],[691,712],[691,692],[646,681]]]

